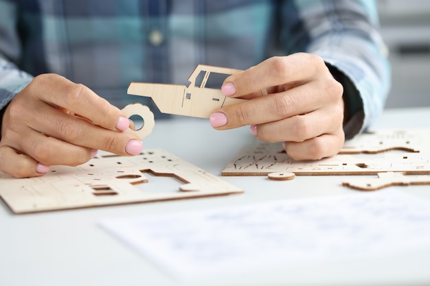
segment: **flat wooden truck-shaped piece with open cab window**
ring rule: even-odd
[[[191,73],[190,84],[154,84],[132,82],[127,93],[151,97],[160,112],[172,115],[209,118],[214,110],[244,102],[246,99],[226,97],[220,87],[228,75],[238,73],[238,69],[213,67],[199,64]],[[262,94],[267,94],[262,91]]]

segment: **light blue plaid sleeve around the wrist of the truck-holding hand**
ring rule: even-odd
[[[306,51],[321,56],[343,84],[346,138],[381,114],[390,86],[387,47],[373,1],[296,1],[306,27]]]

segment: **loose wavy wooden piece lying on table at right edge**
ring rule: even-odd
[[[390,186],[430,184],[430,176],[406,176],[404,172],[378,173],[378,178],[343,180],[343,186],[360,191],[376,191]]]

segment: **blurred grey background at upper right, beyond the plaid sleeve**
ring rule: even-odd
[[[386,108],[430,106],[430,1],[377,2],[393,69]]]

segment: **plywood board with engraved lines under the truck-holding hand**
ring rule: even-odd
[[[322,160],[295,161],[281,143],[252,139],[225,167],[223,176],[430,174],[430,130],[376,130],[347,141],[341,152]]]

